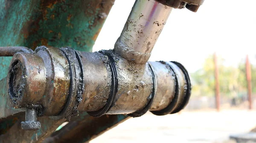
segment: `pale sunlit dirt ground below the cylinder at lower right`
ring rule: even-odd
[[[256,110],[198,111],[131,118],[90,143],[236,143],[231,134],[256,126]]]

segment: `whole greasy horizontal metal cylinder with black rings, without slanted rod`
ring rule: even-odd
[[[34,107],[52,119],[69,118],[77,111],[93,116],[144,114],[145,108],[169,114],[182,108],[190,91],[185,88],[190,87],[187,73],[175,63],[135,64],[113,51],[41,46],[35,52],[14,55],[10,98],[16,108]],[[162,112],[167,107],[168,112]]]

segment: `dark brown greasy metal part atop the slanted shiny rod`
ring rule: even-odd
[[[171,6],[175,9],[187,8],[190,11],[197,12],[199,7],[204,3],[204,0],[156,0],[166,6]]]

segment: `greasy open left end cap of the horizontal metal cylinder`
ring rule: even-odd
[[[15,108],[35,105],[44,94],[45,69],[36,54],[16,53],[9,66],[8,92]]]

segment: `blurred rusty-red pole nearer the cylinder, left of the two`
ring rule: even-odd
[[[216,52],[214,53],[214,65],[215,65],[215,102],[216,109],[220,111],[220,87],[219,87],[219,73],[218,73],[218,57]]]

